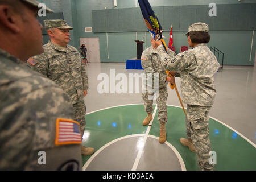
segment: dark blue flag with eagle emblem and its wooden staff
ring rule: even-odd
[[[144,21],[146,23],[147,29],[148,31],[151,32],[151,35],[154,36],[155,40],[162,40],[162,44],[164,47],[164,50],[167,52],[167,47],[166,47],[166,43],[163,40],[163,29],[162,26],[156,16],[156,14],[154,13],[154,11],[152,10],[150,3],[148,2],[148,0],[138,0],[139,2],[139,7],[141,7],[141,12],[144,18]],[[174,75],[172,76],[171,73],[169,71],[166,71],[166,73],[170,76],[170,77],[174,77]],[[186,114],[185,108],[181,102],[181,98],[180,98],[180,94],[179,91],[177,90],[177,86],[176,83],[170,83],[170,88],[176,90],[177,96],[179,97],[179,101],[180,104],[183,108],[184,113]]]

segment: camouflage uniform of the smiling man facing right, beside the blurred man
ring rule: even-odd
[[[44,53],[32,57],[36,61],[28,67],[55,81],[71,98],[75,111],[74,120],[80,123],[81,133],[85,130],[84,90],[88,89],[88,77],[79,51],[75,47],[57,46],[49,41],[43,46]]]

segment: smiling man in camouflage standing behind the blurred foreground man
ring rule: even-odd
[[[29,59],[27,65],[55,81],[68,94],[75,110],[74,120],[80,123],[84,134],[88,77],[79,51],[68,45],[69,30],[73,28],[65,20],[44,20],[44,28],[51,41],[43,46],[44,53]],[[91,155],[94,148],[81,146],[81,151],[82,155]]]

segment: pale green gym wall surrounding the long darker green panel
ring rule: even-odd
[[[92,27],[92,10],[105,10],[106,9],[127,9],[136,6],[135,0],[117,0],[117,7],[113,6],[113,0],[44,0],[40,2],[46,3],[47,6],[56,12],[63,11],[64,19],[68,24],[73,26],[74,30],[71,31],[72,46],[79,47],[79,38],[98,37],[100,38],[100,55],[101,62],[126,62],[126,59],[136,57],[136,39],[135,32],[113,32],[108,33],[109,44],[109,59],[107,56],[107,43],[106,33],[85,32],[85,27]],[[225,4],[241,4],[238,1],[218,0],[218,1],[201,1],[201,0],[149,0],[151,6],[187,6],[187,5],[209,5],[209,3],[216,3],[217,15],[218,5]],[[256,3],[255,0],[242,1],[243,3]],[[137,2],[137,7],[139,7]],[[256,11],[256,10],[255,10]],[[142,17],[138,17],[142,18]],[[255,17],[256,18],[256,17]],[[228,20],[228,19],[227,19]],[[236,21],[236,19],[229,19]],[[99,22],[100,23],[100,22]],[[114,22],[113,22],[114,24]],[[145,30],[146,31],[146,30]],[[164,31],[164,40],[168,44],[168,37],[170,32]],[[184,36],[185,31],[173,31],[174,46],[176,52],[180,52],[180,46],[187,46],[187,37]],[[224,64],[229,65],[254,65],[255,57],[255,39],[253,44],[253,53],[250,59],[251,51],[251,38],[253,31],[210,31],[211,40],[208,44],[209,47],[217,47],[224,55]],[[138,32],[138,40],[142,40],[145,32]],[[150,34],[147,35],[147,47],[150,46]],[[145,38],[144,38],[145,40]],[[146,45],[144,45],[145,47]]]

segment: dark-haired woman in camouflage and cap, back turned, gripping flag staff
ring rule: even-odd
[[[213,170],[209,162],[209,152],[212,150],[209,139],[209,110],[213,105],[216,89],[214,88],[214,73],[220,64],[207,47],[210,40],[209,28],[205,23],[194,23],[185,34],[192,49],[169,56],[164,52],[162,42],[152,44],[157,47],[164,68],[177,71],[181,76],[182,100],[187,104],[187,139],[180,142],[196,152],[201,170]]]

